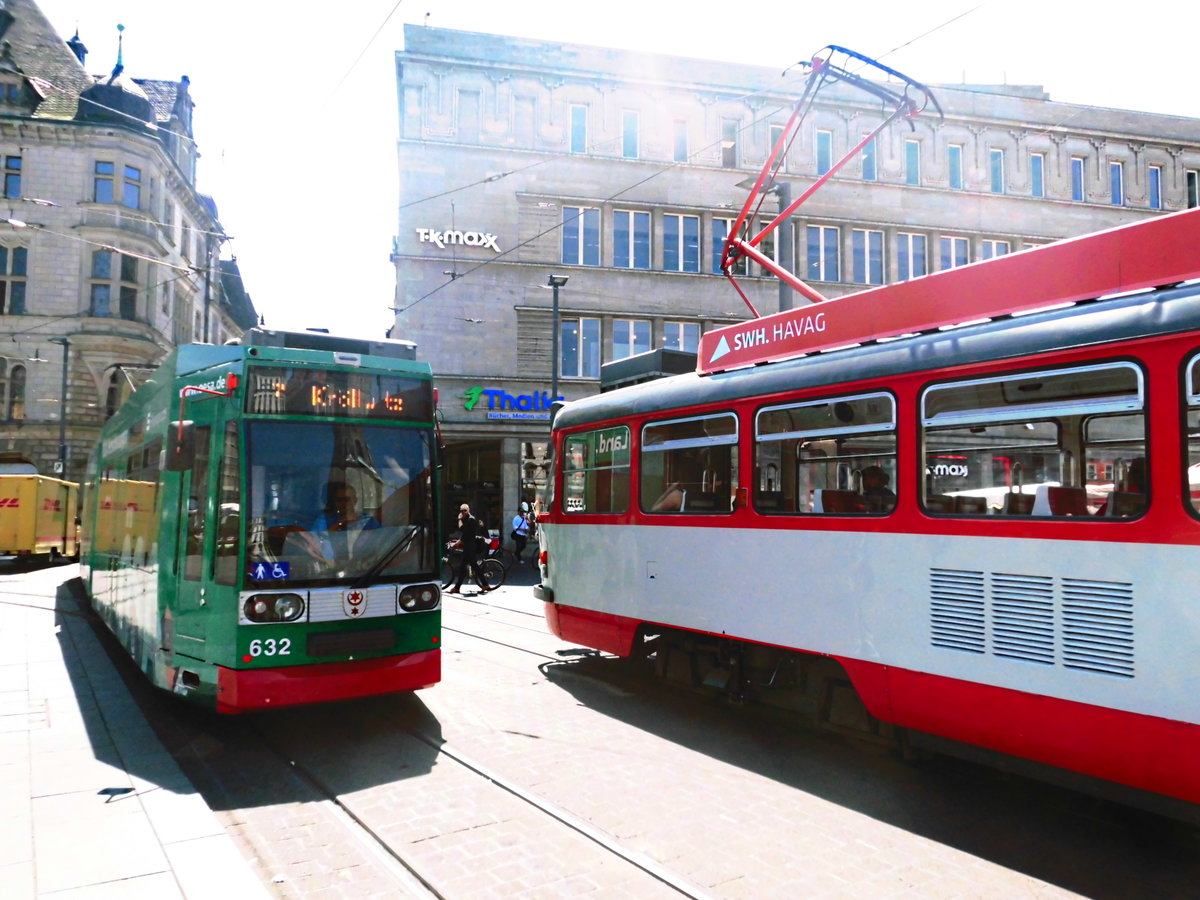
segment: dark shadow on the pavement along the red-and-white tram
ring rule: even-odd
[[[636,728],[1086,896],[1194,896],[1194,826],[952,757],[906,762],[791,714],[664,684],[641,661],[584,655],[541,668]]]

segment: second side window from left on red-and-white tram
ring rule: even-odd
[[[638,457],[646,512],[730,512],[738,486],[738,419],[733,413],[652,422]]]

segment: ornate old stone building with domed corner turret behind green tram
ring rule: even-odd
[[[0,472],[79,480],[170,347],[256,316],[196,190],[187,78],[130,78],[119,49],[89,76],[32,0],[5,1],[0,48]]]

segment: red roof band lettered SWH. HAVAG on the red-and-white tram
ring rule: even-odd
[[[1200,209],[709,331],[701,374],[1200,278]]]

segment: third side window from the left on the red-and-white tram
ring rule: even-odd
[[[755,509],[888,514],[896,503],[895,460],[890,394],[766,407],[755,420]]]

